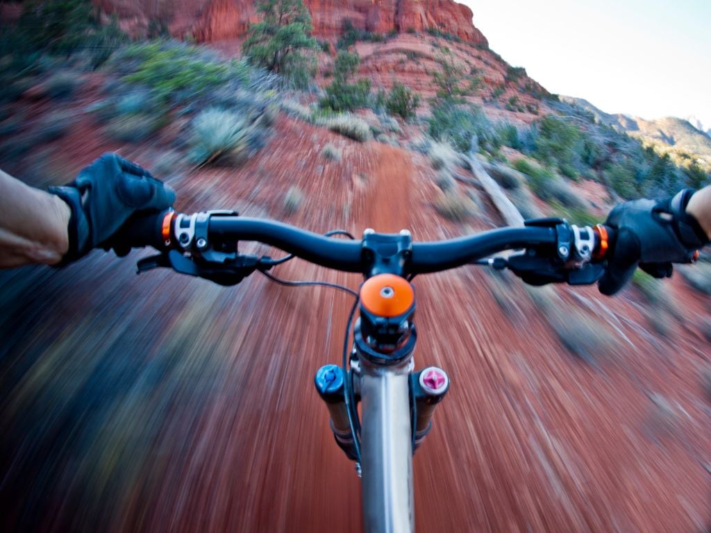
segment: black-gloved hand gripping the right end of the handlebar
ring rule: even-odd
[[[709,239],[697,220],[686,212],[695,191],[684,189],[673,198],[654,202],[634,200],[617,205],[605,225],[616,232],[608,263],[599,281],[602,294],[615,294],[639,266],[651,276],[670,277],[672,263],[688,263],[693,252]]]

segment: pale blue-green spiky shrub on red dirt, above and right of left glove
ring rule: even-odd
[[[192,123],[191,159],[197,164],[234,165],[248,155],[249,126],[225,109],[206,109]]]

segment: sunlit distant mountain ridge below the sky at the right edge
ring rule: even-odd
[[[645,120],[625,114],[606,113],[582,98],[564,96],[560,99],[589,112],[599,123],[626,131],[631,136],[657,146],[666,146],[668,151],[683,151],[697,156],[703,160],[703,166],[711,166],[711,136],[688,120],[676,117]],[[697,119],[695,122],[702,127]]]

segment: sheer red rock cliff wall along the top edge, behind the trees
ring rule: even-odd
[[[137,31],[153,18],[169,21],[171,33],[198,41],[239,38],[257,20],[255,0],[96,0],[107,14],[117,14],[124,28]],[[436,28],[476,45],[486,38],[472,23],[471,10],[453,0],[305,0],[314,33],[336,38],[343,20],[378,33]]]

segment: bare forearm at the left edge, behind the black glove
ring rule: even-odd
[[[69,248],[70,215],[58,196],[0,171],[0,268],[60,262]]]

